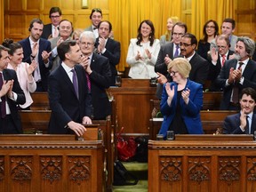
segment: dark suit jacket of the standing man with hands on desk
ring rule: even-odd
[[[84,68],[76,65],[79,100],[72,82],[65,69],[60,65],[49,76],[49,102],[52,114],[49,122],[49,133],[72,133],[64,128],[68,122],[82,123],[84,116],[92,116],[92,98],[88,92]]]

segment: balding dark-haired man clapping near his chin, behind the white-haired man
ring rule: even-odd
[[[114,39],[109,38],[112,25],[108,20],[100,21],[99,23],[99,38],[96,39],[95,47],[97,52],[105,56],[109,60],[111,69],[111,80],[110,85],[115,86],[117,70],[116,65],[120,61],[121,49],[120,43]]]

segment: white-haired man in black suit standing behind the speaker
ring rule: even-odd
[[[84,31],[81,34],[79,46],[86,58],[81,65],[91,82],[93,119],[106,119],[111,114],[111,105],[106,92],[110,86],[111,70],[108,58],[93,53],[95,41],[92,31]]]

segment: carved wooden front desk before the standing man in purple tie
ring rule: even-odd
[[[100,140],[78,141],[72,135],[0,135],[0,150],[0,191],[102,191]]]

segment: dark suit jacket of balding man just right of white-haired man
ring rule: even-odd
[[[97,48],[98,45],[99,45],[99,38],[96,39],[95,47]],[[114,39],[108,38],[108,42],[105,48],[106,48],[106,52],[104,52],[102,55],[107,57],[109,60],[110,69],[112,73],[110,85],[114,86],[116,81],[116,75],[117,75],[116,65],[119,63],[120,56],[121,56],[120,43],[115,41]]]

